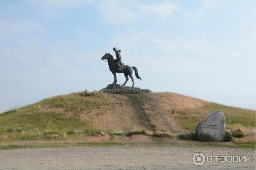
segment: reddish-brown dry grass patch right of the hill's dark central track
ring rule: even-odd
[[[176,112],[186,108],[201,107],[209,103],[201,99],[168,92],[138,94],[137,99],[151,124],[155,126],[155,130],[165,130],[175,134],[183,131],[180,122],[175,119]]]

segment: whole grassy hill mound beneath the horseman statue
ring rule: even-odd
[[[174,135],[189,132],[216,110],[222,110],[226,129],[241,129],[247,137],[229,145],[255,146],[255,111],[228,107],[169,92],[148,94],[102,94],[78,92],[43,99],[26,107],[0,114],[0,148],[77,144],[189,144],[178,139],[154,136],[112,136],[114,130],[166,131]],[[83,130],[74,133],[74,130]],[[102,130],[105,136],[90,136]],[[58,138],[44,134],[55,133]],[[109,134],[108,134],[109,133]],[[219,142],[218,142],[219,143]],[[191,144],[191,142],[190,142]],[[195,142],[193,143],[195,144]],[[225,144],[224,144],[225,145]]]

